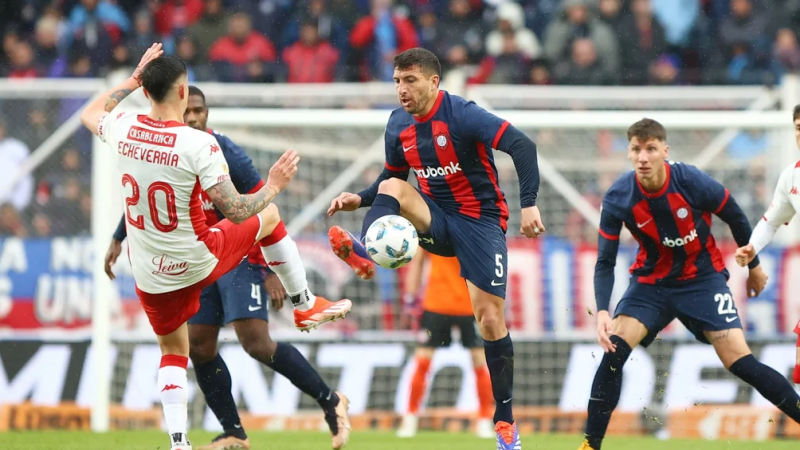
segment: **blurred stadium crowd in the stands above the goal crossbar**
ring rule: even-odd
[[[424,46],[473,83],[773,84],[797,0],[8,0],[0,76],[94,77],[153,41],[192,81],[389,81]]]

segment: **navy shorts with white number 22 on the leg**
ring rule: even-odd
[[[647,347],[670,322],[678,319],[708,344],[704,331],[742,328],[739,312],[733,302],[728,280],[723,274],[686,282],[682,286],[657,286],[631,280],[614,311],[614,316],[637,319],[647,328],[641,345]]]

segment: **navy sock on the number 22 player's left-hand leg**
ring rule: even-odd
[[[611,413],[617,407],[622,392],[622,366],[631,354],[631,347],[619,336],[611,336],[617,346],[615,352],[605,353],[592,383],[589,396],[589,417],[586,419],[586,439],[589,445],[600,450],[603,438],[611,421]]]

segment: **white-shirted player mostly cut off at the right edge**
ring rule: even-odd
[[[800,105],[794,107],[792,122],[794,123],[794,139],[798,148],[800,148]],[[798,189],[800,189],[800,161],[792,163],[781,172],[781,176],[778,178],[778,185],[775,186],[772,203],[769,205],[767,212],[764,213],[762,220],[759,220],[753,229],[750,242],[736,250],[736,262],[740,266],[744,267],[752,261],[770,243],[778,228],[781,225],[788,225],[797,211],[800,211]],[[747,287],[747,293],[750,295],[750,286]],[[800,322],[795,325],[794,332],[798,336],[792,381],[795,384],[800,384]]]

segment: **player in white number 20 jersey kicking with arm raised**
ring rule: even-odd
[[[236,267],[259,243],[308,326],[343,317],[352,304],[312,295],[294,241],[288,236],[270,239],[281,224],[270,202],[297,172],[297,153],[284,153],[260,190],[239,194],[216,139],[184,125],[186,66],[162,53],[161,44],[148,49],[133,76],[92,102],[81,121],[114,150],[125,191],[136,292],[161,347],[158,389],[171,448],[191,450],[186,435],[186,321],[197,312],[203,288]],[[150,100],[149,114],[114,111],[140,86]],[[205,222],[203,191],[226,217],[212,228]]]

